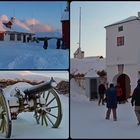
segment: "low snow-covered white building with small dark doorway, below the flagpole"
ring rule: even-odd
[[[98,97],[98,86],[101,82],[97,71],[106,70],[106,60],[100,56],[71,58],[70,73],[82,75],[75,78],[79,87],[85,90],[85,95],[89,100]]]

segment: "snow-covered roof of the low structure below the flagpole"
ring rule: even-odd
[[[83,59],[71,58],[70,73],[86,74],[85,77],[98,77],[98,70],[106,69],[106,59],[96,57],[85,57]]]

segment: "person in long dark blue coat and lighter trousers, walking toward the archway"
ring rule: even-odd
[[[117,91],[114,87],[114,84],[110,84],[110,87],[106,91],[106,102],[107,102],[107,112],[106,112],[106,119],[110,119],[111,110],[113,113],[113,120],[117,121]]]

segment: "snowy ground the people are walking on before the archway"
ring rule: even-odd
[[[98,101],[89,101],[74,79],[70,86],[71,138],[140,138],[140,127],[130,100],[118,105],[118,120],[114,122],[112,114],[110,120],[105,119],[106,106],[98,106]]]

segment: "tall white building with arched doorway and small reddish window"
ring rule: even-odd
[[[128,98],[140,78],[140,13],[105,29],[107,79],[120,83]]]

